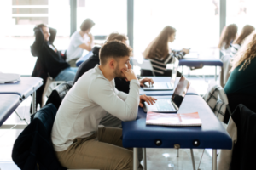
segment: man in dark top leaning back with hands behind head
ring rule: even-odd
[[[70,68],[53,45],[56,30],[40,24],[34,28],[34,32],[36,40],[31,46],[32,55],[38,57],[45,71],[55,81],[73,81],[77,68]],[[49,37],[50,32],[53,33],[53,37]]]

